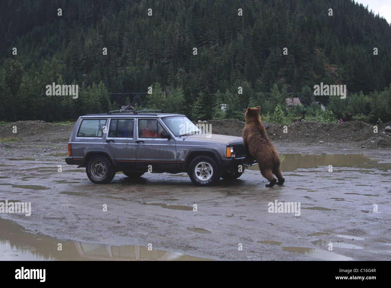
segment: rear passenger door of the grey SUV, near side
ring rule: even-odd
[[[104,148],[113,153],[120,171],[135,168],[135,119],[111,118],[108,127]]]

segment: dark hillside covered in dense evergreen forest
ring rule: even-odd
[[[391,27],[350,0],[4,0],[0,19],[0,120],[146,106],[156,83],[181,87],[184,112],[194,115],[201,92],[214,103],[220,91],[228,103],[240,85],[248,85],[240,101],[247,106],[275,83],[288,93],[323,82],[364,94],[391,83]],[[83,97],[47,97],[53,82],[77,84]]]

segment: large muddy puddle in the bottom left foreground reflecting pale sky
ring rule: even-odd
[[[0,218],[0,259],[3,261],[87,261],[87,260],[149,260],[149,261],[208,261],[163,250],[148,250],[138,245],[111,246],[70,240],[59,240],[40,233],[30,233],[13,221]],[[62,244],[62,251],[57,244]],[[153,243],[152,243],[153,244]]]

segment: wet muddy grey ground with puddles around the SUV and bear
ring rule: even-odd
[[[239,129],[239,124],[226,122],[231,130]],[[364,126],[345,135],[337,130],[344,127],[336,126],[341,124],[299,123],[294,131],[288,128],[301,139],[271,126],[268,133],[274,137],[285,177],[283,186],[273,188],[265,187],[255,167],[215,187],[196,187],[185,173],[146,173],[133,181],[117,173],[110,184],[97,185],[88,180],[85,169],[65,164],[73,125],[16,125],[17,137],[23,140],[0,142],[0,202],[31,202],[32,214],[0,214],[0,240],[6,243],[0,257],[119,259],[113,247],[127,247],[139,251],[138,259],[171,259],[161,256],[164,251],[184,254],[179,259],[185,260],[391,259],[391,153],[389,145],[383,147],[389,140],[387,135],[373,136],[373,129],[365,136],[362,130],[369,125],[351,123],[352,130]],[[326,130],[327,125],[334,126]],[[343,125],[352,132],[348,123]],[[0,125],[2,137],[16,137],[7,134],[9,129]],[[231,131],[224,122],[212,122],[212,133],[223,129]],[[305,138],[306,131],[315,136]],[[268,203],[275,200],[300,202],[300,216],[269,213]],[[105,204],[108,210],[102,211]],[[62,252],[58,243],[64,244]],[[157,256],[147,254],[149,243],[150,253]],[[88,254],[86,245],[98,246]],[[105,249],[110,250],[107,255]],[[127,255],[123,252],[121,259],[137,259]]]

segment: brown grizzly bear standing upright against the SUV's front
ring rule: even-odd
[[[273,187],[274,184],[282,185],[285,179],[282,177],[280,170],[280,157],[278,157],[276,149],[267,137],[265,127],[261,122],[260,111],[260,106],[243,109],[246,125],[242,137],[246,158],[254,157],[258,160],[262,176],[270,181],[269,184],[266,184],[266,187]],[[278,182],[273,174],[276,175]]]

